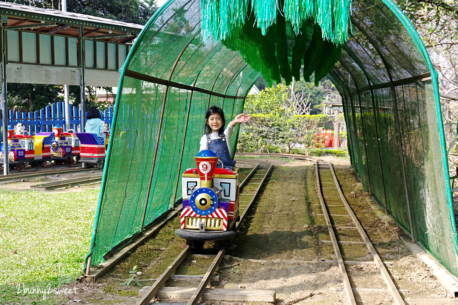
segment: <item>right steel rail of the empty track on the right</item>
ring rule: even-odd
[[[404,305],[403,298],[401,297],[401,294],[399,294],[399,291],[396,288],[396,285],[394,284],[393,279],[390,277],[390,274],[388,273],[387,268],[383,264],[377,251],[375,250],[374,246],[372,245],[371,240],[369,239],[369,236],[367,236],[360,221],[354,214],[347,199],[345,198],[344,193],[342,192],[342,189],[340,188],[339,182],[337,180],[336,173],[334,172],[332,163],[328,162],[328,166],[329,166],[329,169],[331,170],[331,173],[333,174],[334,183],[336,185],[336,189],[339,193],[340,199],[342,200],[342,203],[344,203],[345,209],[347,209],[347,212],[350,215],[350,218],[353,220],[353,223],[356,229],[358,230],[358,232],[360,233],[361,238],[363,239],[365,245],[367,246],[367,249],[371,252],[372,257],[374,258],[374,262],[376,263],[376,266],[378,270],[380,271],[380,274],[382,275],[382,278],[385,281],[385,284],[387,284],[388,290],[390,290],[391,294],[393,295],[394,301],[396,302],[397,305]]]

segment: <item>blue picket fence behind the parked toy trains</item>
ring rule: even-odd
[[[65,106],[64,103],[50,104],[40,111],[35,112],[17,112],[8,110],[8,125],[12,127],[17,123],[23,123],[30,135],[37,132],[52,132],[54,125],[60,125],[65,128]],[[100,112],[102,121],[106,121],[111,128],[111,118],[113,117],[113,107]],[[81,125],[81,110],[78,107],[70,105],[70,128],[78,131]]]

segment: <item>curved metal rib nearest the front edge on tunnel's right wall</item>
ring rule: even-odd
[[[385,57],[382,54],[382,51],[375,43],[375,41],[369,36],[369,34],[356,22],[353,18],[351,18],[351,23],[360,30],[361,33],[365,35],[367,40],[374,46],[378,55],[382,59],[383,65],[387,70],[388,77],[391,83],[391,91],[393,94],[393,106],[394,106],[394,120],[396,121],[396,128],[398,129],[398,141],[399,141],[399,150],[401,152],[401,164],[402,164],[402,171],[403,171],[403,178],[404,178],[404,189],[405,189],[405,196],[407,201],[407,210],[409,212],[409,225],[410,225],[410,237],[412,239],[412,243],[415,243],[415,236],[414,236],[414,225],[412,222],[412,211],[410,209],[410,196],[409,196],[409,188],[407,187],[407,175],[405,173],[405,160],[404,160],[404,151],[402,145],[402,137],[401,137],[401,126],[399,125],[399,113],[398,113],[398,99],[396,97],[396,89],[394,88],[393,76],[391,75],[390,67],[388,66],[388,62],[385,60]]]

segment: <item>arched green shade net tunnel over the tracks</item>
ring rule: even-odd
[[[280,73],[287,80],[304,64],[307,74],[327,73],[342,96],[350,158],[365,190],[458,276],[436,71],[417,32],[390,0],[353,2],[347,16],[345,43],[336,43],[342,41],[342,33],[326,30],[337,52],[323,49],[329,41],[313,34],[321,30],[314,22],[297,25],[302,27],[300,33],[286,27],[287,50],[273,44],[276,71],[261,56],[261,48],[244,48],[235,41],[234,37],[251,35],[240,30],[246,24],[236,24],[224,43],[213,39],[212,33],[202,37],[200,0],[169,1],[157,11],[120,70],[86,263],[89,257],[91,265],[104,261],[109,251],[141,234],[180,199],[180,174],[194,167],[209,106],[222,107],[230,121],[242,112],[258,71],[264,69],[266,79],[276,81]],[[300,42],[294,38],[299,34],[308,38]],[[294,39],[296,45],[302,43],[302,53],[295,59]],[[258,62],[253,52],[260,52]],[[293,58],[288,67],[285,56]],[[319,72],[323,66],[326,71]],[[270,76],[268,71],[273,71]],[[231,139],[233,153],[238,128]]]

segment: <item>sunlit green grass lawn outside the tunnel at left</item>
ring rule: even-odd
[[[0,304],[53,304],[16,285],[52,290],[82,274],[98,193],[0,191]]]

